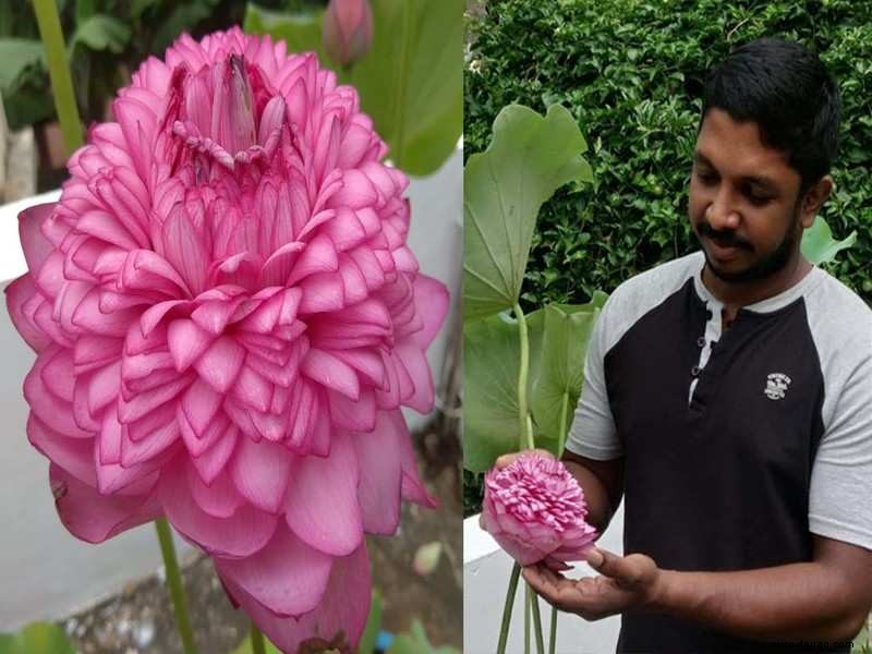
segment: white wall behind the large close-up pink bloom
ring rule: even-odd
[[[457,150],[409,190],[412,221],[409,243],[427,275],[443,280],[455,299],[460,288],[462,242],[462,155]],[[17,233],[21,209],[52,202],[59,193],[0,207],[0,286],[26,271]],[[457,307],[455,303],[455,307]],[[450,325],[450,316],[446,320]],[[448,340],[443,329],[428,352],[438,385]],[[0,631],[37,619],[56,619],[119,592],[160,566],[154,526],[143,525],[101,545],[88,545],[66,532],[55,511],[48,461],[27,441],[27,404],[22,384],[34,352],[0,310]],[[412,411],[410,427],[426,422]],[[182,549],[186,549],[185,545]],[[180,552],[180,555],[183,552]]]

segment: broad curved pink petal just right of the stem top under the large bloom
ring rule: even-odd
[[[243,505],[229,518],[214,518],[191,497],[186,474],[183,465],[173,465],[159,484],[167,518],[182,535],[217,556],[246,557],[264,548],[276,531],[275,516]]]

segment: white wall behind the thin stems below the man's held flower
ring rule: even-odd
[[[600,547],[622,554],[623,502],[611,519]],[[489,534],[479,528],[479,517],[463,521],[463,652],[464,654],[493,654],[497,649],[502,606],[509,585],[511,558],[499,548]],[[576,564],[570,578],[595,577],[588,564]],[[506,654],[524,651],[524,583],[521,578],[514,598],[511,628]],[[540,600],[543,638],[548,647],[550,605]],[[558,613],[556,654],[610,654],[615,652],[620,630],[620,618],[613,616],[588,622],[572,614]],[[531,643],[535,652],[535,640]]]

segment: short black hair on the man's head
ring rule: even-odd
[[[761,38],[735,49],[705,78],[700,129],[713,108],[755,122],[763,144],[799,172],[800,195],[829,172],[841,100],[833,75],[804,46]]]

